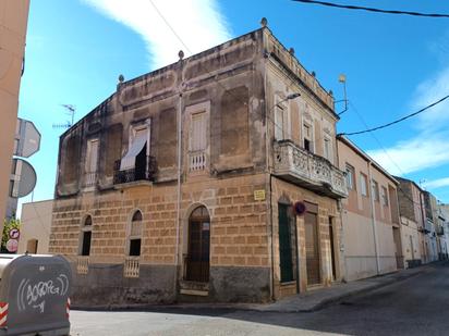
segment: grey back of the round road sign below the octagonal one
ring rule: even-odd
[[[11,197],[24,197],[32,192],[36,186],[36,171],[28,162],[23,159],[12,160]]]

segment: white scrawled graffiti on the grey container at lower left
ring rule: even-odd
[[[33,283],[29,278],[21,281],[17,290],[17,308],[24,311],[26,308],[45,312],[46,300],[50,296],[65,296],[69,291],[69,278],[65,274],[59,274],[53,279]]]

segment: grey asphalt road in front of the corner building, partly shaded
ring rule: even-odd
[[[72,311],[72,335],[449,335],[449,263],[313,313]]]

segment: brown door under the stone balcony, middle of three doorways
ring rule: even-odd
[[[318,245],[317,214],[306,212],[305,226],[305,256],[307,267],[307,285],[320,283],[319,245]]]

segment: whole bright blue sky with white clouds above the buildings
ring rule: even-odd
[[[449,13],[447,1],[336,0],[376,8]],[[321,85],[342,98],[348,112],[339,132],[376,126],[449,95],[449,20],[344,11],[292,1],[153,0],[193,52],[259,27],[260,17]],[[119,74],[125,79],[177,60],[185,47],[150,0],[32,1],[22,78],[21,117],[43,135],[29,161],[38,182],[34,200],[53,196],[59,135],[53,124],[75,120],[109,97]],[[340,110],[342,107],[338,107]],[[449,202],[449,103],[397,126],[351,137],[390,173],[425,181]],[[31,201],[31,196],[21,200]]]

